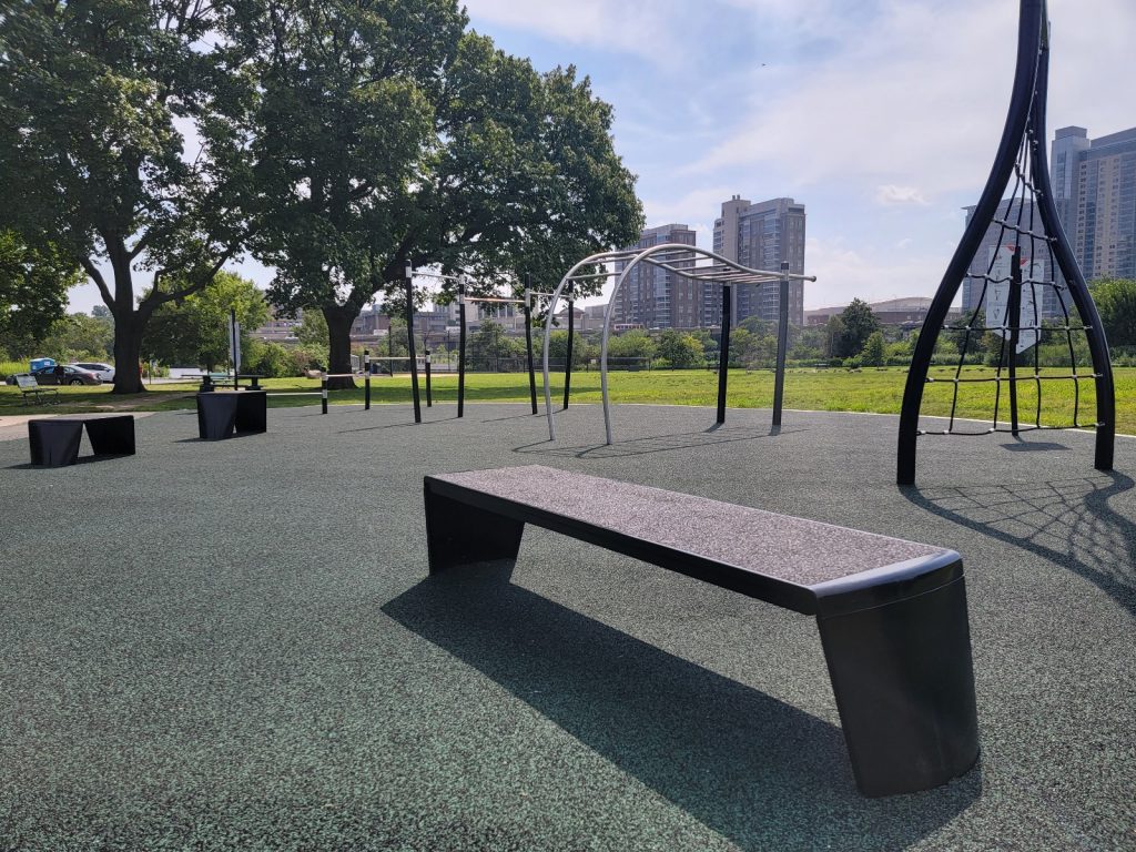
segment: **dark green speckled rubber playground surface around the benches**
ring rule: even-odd
[[[617,406],[0,441],[0,850],[1136,847],[1136,441]],[[84,438],[85,441],[85,438]],[[427,578],[425,474],[541,463],[958,550],[982,757],[855,792],[810,618],[529,527]]]

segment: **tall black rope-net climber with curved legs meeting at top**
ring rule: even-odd
[[[900,412],[899,453],[896,459],[896,482],[910,485],[916,477],[916,438],[920,435],[988,435],[1006,433],[1018,436],[1021,432],[1043,428],[1096,429],[1097,470],[1112,469],[1116,433],[1116,401],[1113,396],[1112,367],[1109,362],[1109,346],[1101,326],[1101,317],[1085,284],[1085,277],[1077,265],[1064,228],[1058,218],[1050,185],[1049,166],[1045,156],[1045,101],[1049,77],[1050,43],[1045,0],[1021,0],[1018,25],[1018,64],[1014,70],[1013,91],[1002,141],[994,158],[994,166],[986,181],[986,187],[975,208],[975,214],[963,232],[962,241],[955,249],[943,275],[938,292],[932,301],[924,321],[922,333],[916,344],[903,392],[903,408]],[[1008,202],[1003,193],[1013,175],[1013,191]],[[1014,209],[1017,208],[1017,209]],[[999,226],[997,241],[989,250],[988,258],[978,258],[987,228]],[[1009,241],[1009,242],[1008,242]],[[978,260],[983,272],[971,272]],[[1061,275],[1055,275],[1060,269]],[[946,314],[963,279],[971,286],[980,285],[978,301],[974,310],[961,320],[961,325],[946,326]],[[1046,295],[1052,291],[1052,296]],[[1076,308],[1070,312],[1069,301]],[[1042,306],[1045,301],[1056,303],[1063,323],[1045,326],[1042,323]],[[978,321],[978,312],[985,310],[985,320]],[[919,410],[924,387],[930,382],[942,382],[929,377],[932,356],[941,331],[962,332],[959,362],[952,378],[953,393],[951,416],[945,429],[933,432],[919,428]],[[993,377],[963,377],[962,366],[972,335],[980,341],[986,332],[1002,337],[999,366]],[[1077,369],[1074,350],[1074,333],[1084,334],[1093,361],[1092,373]],[[1069,350],[1069,374],[1043,375],[1038,349],[1043,335],[1063,337]],[[1018,354],[1034,350],[1031,375],[1019,376]],[[1003,373],[1003,361],[1008,365]],[[1080,383],[1092,379],[1096,385],[1096,419],[1092,424],[1080,423]],[[1072,423],[1063,426],[1043,426],[1042,386],[1046,381],[1070,381],[1074,385]],[[994,383],[994,414],[991,426],[982,432],[955,431],[955,409],[959,387],[967,383]],[[1037,404],[1034,421],[1022,426],[1018,419],[1018,383],[1031,382],[1036,386]],[[1008,390],[1009,428],[999,423],[999,407],[1003,383]]]

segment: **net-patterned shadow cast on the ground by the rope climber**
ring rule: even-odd
[[[1109,506],[1133,485],[1111,471],[1028,485],[901,491],[920,509],[1078,574],[1136,616],[1136,523]]]

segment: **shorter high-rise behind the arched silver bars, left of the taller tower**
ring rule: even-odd
[[[628,249],[649,249],[665,243],[694,245],[694,232],[686,225],[670,224],[648,228],[635,245]],[[693,266],[692,260],[667,261],[673,266]],[[623,272],[626,262],[617,262]],[[628,274],[615,296],[612,320],[616,325],[643,328],[696,328],[701,324],[702,285],[667,269],[650,264],[637,264]]]

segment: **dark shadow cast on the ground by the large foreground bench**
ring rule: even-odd
[[[844,849],[850,825],[871,827],[858,849],[901,849],[980,794],[976,767],[864,799],[838,727],[512,585],[510,570],[429,577],[382,609],[742,849]]]

